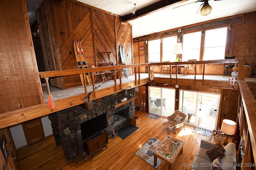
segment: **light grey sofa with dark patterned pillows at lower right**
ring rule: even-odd
[[[192,170],[210,170],[212,161],[210,160],[207,150],[211,149],[215,143],[201,140],[200,149],[192,164]],[[229,143],[224,147],[225,155],[220,159],[222,170],[236,170],[236,144]]]

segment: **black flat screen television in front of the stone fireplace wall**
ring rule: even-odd
[[[85,121],[84,123],[81,123],[80,126],[82,141],[86,141],[87,139],[90,139],[101,133],[101,131],[108,127],[106,113]]]

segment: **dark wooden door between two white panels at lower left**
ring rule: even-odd
[[[33,119],[22,123],[23,131],[28,145],[44,139],[44,130],[41,119]]]

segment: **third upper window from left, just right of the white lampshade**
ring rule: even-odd
[[[182,61],[200,60],[201,31],[183,35]]]

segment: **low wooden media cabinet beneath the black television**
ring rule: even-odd
[[[107,131],[104,130],[103,133],[100,133],[95,137],[92,137],[91,139],[84,141],[83,147],[84,147],[84,150],[86,151],[86,154],[88,154],[89,156],[93,156],[95,152],[102,149],[103,147],[106,147],[106,149],[108,149],[107,144],[108,144],[108,133]]]

